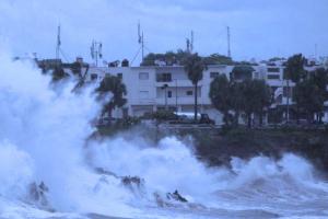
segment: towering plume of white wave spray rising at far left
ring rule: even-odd
[[[68,82],[61,84],[61,92],[55,92],[49,88],[50,77],[42,74],[33,64],[12,61],[4,54],[0,55],[0,142],[12,142],[34,164],[32,170],[23,171],[27,165],[17,160],[20,153],[10,157],[5,153],[8,147],[1,146],[1,154],[7,158],[0,161],[2,173],[21,170],[20,177],[28,178],[28,183],[44,182],[56,210],[128,214],[127,208],[119,207],[121,199],[106,201],[106,193],[101,200],[96,198],[99,195],[92,195],[99,175],[90,171],[81,154],[85,139],[94,131],[90,122],[99,113],[93,88],[75,94],[71,92],[74,84]],[[19,184],[20,180],[11,184]],[[4,186],[2,189],[3,194],[8,191]]]

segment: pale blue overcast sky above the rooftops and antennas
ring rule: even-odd
[[[328,0],[0,0],[0,39],[17,56],[55,57],[60,23],[70,61],[90,60],[92,39],[103,43],[104,59],[131,60],[138,20],[152,53],[185,48],[194,30],[196,51],[226,55],[230,26],[236,60],[314,56],[316,44],[328,55]]]

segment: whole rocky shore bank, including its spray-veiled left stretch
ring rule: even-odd
[[[128,130],[108,134],[97,132],[93,137],[121,136],[133,138],[140,136],[153,142],[176,136],[190,141],[199,160],[210,166],[229,165],[232,157],[248,160],[258,155],[280,159],[284,153],[294,153],[312,162],[314,166],[328,176],[328,131],[295,128],[277,129],[235,129],[218,128],[155,128],[133,127]],[[190,140],[191,137],[191,140]],[[156,143],[154,143],[156,145]]]

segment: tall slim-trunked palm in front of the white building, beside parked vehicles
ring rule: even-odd
[[[198,111],[198,104],[197,104],[197,93],[198,93],[198,82],[202,79],[202,71],[207,69],[206,64],[203,62],[202,58],[198,56],[198,54],[190,54],[186,60],[184,61],[185,71],[188,73],[189,80],[194,84],[194,96],[195,96],[195,104],[194,104],[194,111],[195,115],[194,118],[197,120],[197,111]]]

